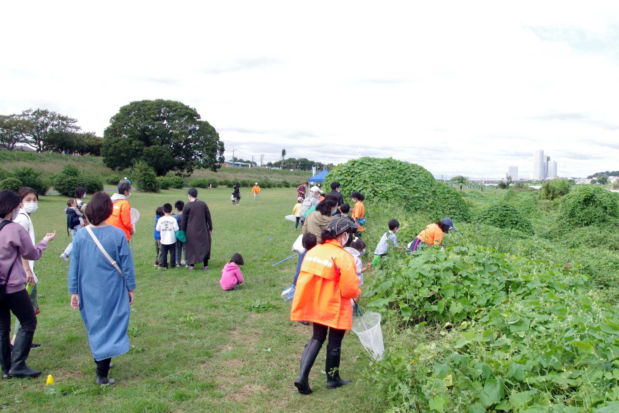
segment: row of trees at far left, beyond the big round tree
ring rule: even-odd
[[[37,152],[101,155],[103,138],[83,132],[77,120],[47,109],[0,115],[0,147],[28,145]]]

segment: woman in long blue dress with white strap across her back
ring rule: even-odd
[[[126,235],[106,222],[113,210],[108,194],[93,194],[85,211],[90,225],[77,233],[69,264],[71,306],[84,320],[98,385],[114,383],[108,379],[111,358],[129,351],[129,306],[136,289]]]

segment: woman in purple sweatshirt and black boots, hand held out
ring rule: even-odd
[[[6,283],[6,295],[0,300],[0,368],[3,379],[9,376],[36,377],[41,374],[26,365],[37,328],[37,316],[26,292],[26,272],[21,258],[36,261],[41,258],[48,241],[56,238],[56,231],[47,233],[40,243],[32,245],[30,234],[24,227],[12,222],[17,217],[21,202],[22,199],[15,191],[0,191],[0,285]],[[11,312],[22,324],[12,350]]]

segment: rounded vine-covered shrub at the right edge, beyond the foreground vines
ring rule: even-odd
[[[579,186],[563,197],[560,212],[573,226],[614,222],[619,217],[617,194],[601,187]]]

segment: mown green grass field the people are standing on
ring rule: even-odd
[[[243,188],[245,189],[245,188]],[[0,410],[12,412],[329,412],[384,411],[361,380],[363,349],[355,334],[344,339],[342,376],[351,385],[327,390],[324,350],[310,375],[314,393],[293,386],[311,326],[290,321],[290,303],[280,298],[292,284],[296,259],[272,267],[290,255],[300,234],[284,219],[297,193],[293,188],[264,189],[254,201],[248,189],[238,207],[229,188],[201,189],[214,223],[210,271],[186,268],[158,271],[154,266],[155,209],[186,200],[185,190],[133,193],[131,206],[141,213],[133,245],[136,300],[129,323],[131,351],[113,359],[113,386],[95,384],[95,363],[79,311],[69,306],[68,263],[58,255],[66,236],[66,198],[41,197],[32,219],[40,240],[56,230],[37,264],[41,313],[28,364],[43,370],[36,379],[0,381]],[[88,201],[89,198],[86,199]],[[272,238],[273,240],[269,240]],[[368,247],[369,248],[369,247]],[[373,247],[372,247],[373,248]],[[222,291],[221,269],[233,253],[245,258],[245,283]],[[367,274],[367,273],[366,273]],[[371,277],[371,275],[370,275]],[[256,300],[277,306],[248,311]],[[51,374],[55,386],[45,386]]]

